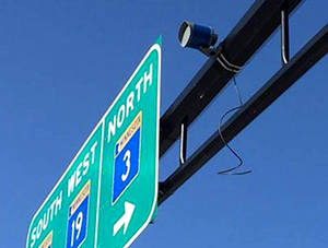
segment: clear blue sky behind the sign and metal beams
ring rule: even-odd
[[[184,20],[213,26],[222,40],[253,0],[12,0],[0,2],[0,247],[25,246],[33,214],[65,172],[149,47],[163,35],[161,114],[206,61],[183,49]],[[311,0],[291,19],[294,55],[328,21]],[[247,99],[280,68],[279,33],[237,76]],[[159,209],[132,247],[327,247],[328,57],[232,145],[253,174],[215,155]],[[190,129],[191,154],[237,104],[232,85]],[[177,145],[160,163],[165,178]]]

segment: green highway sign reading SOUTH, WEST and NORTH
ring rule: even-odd
[[[34,215],[26,248],[128,247],[156,212],[161,39]]]

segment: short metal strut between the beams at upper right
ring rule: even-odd
[[[290,24],[288,2],[281,8],[281,60],[282,66],[290,60]]]

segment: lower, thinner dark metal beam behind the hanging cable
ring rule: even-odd
[[[304,73],[328,51],[328,24],[313,37],[288,64],[282,67],[244,107],[233,115],[222,127],[222,134],[231,141],[247,125],[256,119],[280,95],[292,86]],[[219,132],[214,132],[185,163],[164,182],[160,184],[159,204],[163,203],[215,153],[224,147]]]

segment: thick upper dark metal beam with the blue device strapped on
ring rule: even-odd
[[[244,66],[279,27],[281,7],[288,1],[291,13],[302,0],[257,0],[221,43],[224,57]],[[178,139],[180,123],[189,126],[230,82],[234,73],[210,58],[161,118],[160,157]]]

